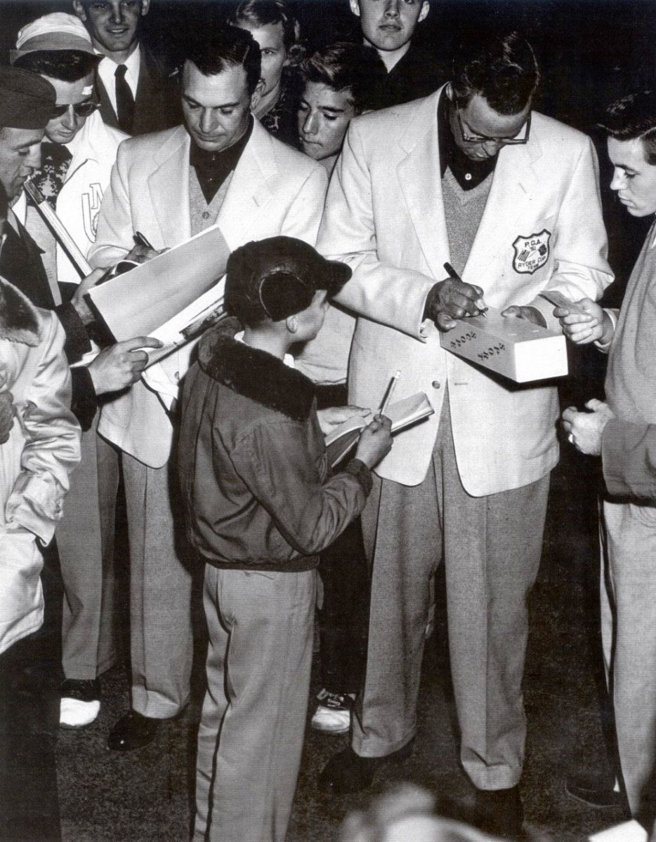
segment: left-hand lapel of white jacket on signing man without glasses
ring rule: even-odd
[[[148,190],[164,245],[191,237],[189,211],[189,135],[180,126],[155,153]]]

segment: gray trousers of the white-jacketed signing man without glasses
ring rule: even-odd
[[[132,707],[144,717],[166,719],[189,700],[193,658],[190,558],[175,502],[177,481],[170,462],[150,468],[121,456],[130,541]]]

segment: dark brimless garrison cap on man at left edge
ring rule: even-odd
[[[0,126],[45,129],[55,104],[55,88],[46,79],[0,65]]]

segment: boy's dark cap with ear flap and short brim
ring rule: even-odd
[[[224,305],[247,324],[280,322],[309,307],[317,290],[336,295],[350,277],[347,264],[326,260],[307,242],[269,237],[247,242],[228,258]]]

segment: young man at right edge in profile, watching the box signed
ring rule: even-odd
[[[603,122],[613,165],[610,189],[631,216],[656,213],[656,92],[636,93],[608,109]],[[654,428],[656,386],[656,222],[649,229],[626,287],[621,310],[602,310],[583,299],[574,310],[558,308],[567,336],[594,342],[609,354],[605,400],[588,412],[568,408],[563,425],[583,453],[601,456],[601,637],[612,688],[621,775],[604,783],[572,779],[567,791],[594,806],[623,801],[653,823],[656,797],[656,515]]]

